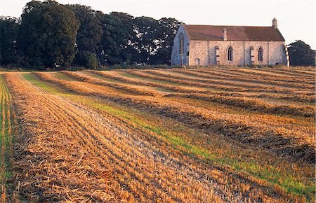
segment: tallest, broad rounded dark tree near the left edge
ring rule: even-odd
[[[76,54],[79,29],[74,12],[56,1],[30,1],[22,13],[18,45],[25,65],[37,68],[69,66]]]

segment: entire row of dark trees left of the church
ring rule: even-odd
[[[30,69],[170,64],[180,22],[89,6],[30,1],[21,18],[0,19],[0,63]]]

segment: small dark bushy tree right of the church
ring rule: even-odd
[[[288,46],[291,66],[315,66],[315,50],[310,45],[296,40]]]

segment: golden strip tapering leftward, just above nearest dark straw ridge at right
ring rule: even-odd
[[[205,111],[217,112],[228,121],[232,120],[242,125],[254,127],[261,132],[274,132],[276,134],[284,134],[290,137],[303,139],[309,144],[315,139],[315,126],[312,118],[302,118],[293,116],[278,116],[266,113],[258,113],[247,111],[239,107],[227,106],[215,102],[204,101],[201,99],[188,99],[169,97],[172,101],[180,102],[196,108],[205,109]],[[230,117],[228,117],[230,115]],[[220,116],[217,116],[220,117]],[[260,133],[259,133],[260,134]]]

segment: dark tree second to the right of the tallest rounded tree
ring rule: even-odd
[[[114,65],[130,63],[133,55],[133,16],[126,13],[112,12],[104,15],[101,63]]]

